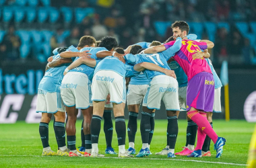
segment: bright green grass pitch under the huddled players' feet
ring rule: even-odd
[[[80,127],[77,121],[77,146],[81,144]],[[115,123],[115,122],[114,122]],[[166,120],[156,120],[156,128],[150,151],[155,154],[166,145]],[[102,124],[103,125],[103,124]],[[214,130],[219,136],[226,138],[224,153],[216,159],[216,152],[211,144],[212,157],[167,158],[150,155],[147,158],[119,159],[117,155],[105,155],[106,158],[88,157],[42,157],[42,144],[38,133],[38,124],[0,124],[0,167],[245,167],[251,134],[255,124],[243,120],[214,121]],[[179,136],[175,151],[181,151],[185,145],[187,122],[179,120]],[[113,135],[113,148],[118,151],[117,135]],[[128,138],[127,138],[128,140]],[[53,122],[49,124],[49,143],[51,149],[57,151],[57,142],[53,132]],[[128,148],[128,142],[126,147]],[[99,150],[104,153],[106,143],[103,129],[100,132]],[[135,139],[136,152],[141,149],[139,129]]]

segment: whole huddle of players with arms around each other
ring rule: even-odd
[[[213,112],[221,112],[222,84],[212,66],[208,48],[214,43],[197,40],[183,21],[172,24],[173,36],[163,44],[139,42],[125,50],[117,40],[104,37],[96,41],[83,36],[77,48],[56,48],[46,65],[46,73],[38,86],[36,112],[42,113],[39,133],[42,155],[69,157],[104,157],[98,150],[101,120],[104,119],[106,154],[117,154],[112,147],[113,121],[119,157],[152,155],[150,143],[154,134],[154,116],[161,101],[168,120],[166,147],[156,155],[211,156],[214,142],[216,158],[222,155],[226,142],[212,128]],[[140,132],[142,147],[136,153],[137,116],[142,102]],[[125,125],[125,103],[129,110]],[[78,109],[81,110],[82,146],[76,148]],[[178,136],[178,116],[187,111],[187,142],[183,151],[174,152]],[[55,116],[54,130],[58,144],[55,153],[49,145],[49,122]],[[129,149],[125,149],[126,132]],[[197,145],[195,138],[197,136]],[[66,145],[67,137],[67,145]]]

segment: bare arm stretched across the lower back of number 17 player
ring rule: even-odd
[[[176,79],[176,75],[175,75],[174,71],[164,69],[164,68],[159,67],[158,65],[155,65],[150,62],[141,62],[139,64],[136,64],[136,65],[134,65],[133,69],[135,71],[139,71],[139,72],[144,71],[145,69],[148,69],[150,71],[158,71],[158,72],[164,73],[170,77],[174,77]]]

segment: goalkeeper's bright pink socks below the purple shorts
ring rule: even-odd
[[[195,122],[197,124],[198,128],[200,128],[200,130],[202,130],[205,134],[207,134],[207,136],[209,136],[215,144],[218,139],[218,135],[216,134],[216,132],[214,132],[214,129],[212,129],[212,126],[207,121],[206,117],[201,116],[201,114],[205,115],[205,113],[201,113],[201,112],[199,113],[197,111],[187,112],[187,116],[191,120],[193,120],[193,122]],[[201,136],[201,135],[199,134],[199,136]],[[197,137],[199,137],[199,136],[197,135]],[[202,136],[201,136],[201,138],[202,138]],[[198,140],[197,140],[197,142],[198,142]]]

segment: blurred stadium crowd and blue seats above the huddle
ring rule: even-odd
[[[210,30],[207,26],[200,30],[202,39],[210,39],[216,44],[214,50],[210,51],[214,65],[222,60],[228,60],[230,64],[249,65],[256,62],[256,5],[253,0],[33,2],[1,1],[1,60],[34,59],[46,62],[51,50],[77,44],[79,36],[85,35],[92,35],[96,40],[113,36],[123,48],[136,42],[164,42],[172,34],[170,24],[157,26],[156,23],[181,19],[201,25],[208,22],[224,23],[218,24],[216,30]],[[14,11],[20,5],[25,7],[25,12]],[[32,13],[30,7],[35,7],[37,16],[33,17],[36,14]],[[31,13],[26,13],[26,10]],[[47,10],[53,15],[51,12],[48,15]],[[242,21],[245,24],[236,24]],[[164,29],[158,30],[158,27]],[[35,33],[30,34],[33,31]],[[197,31],[192,28],[191,32]]]

